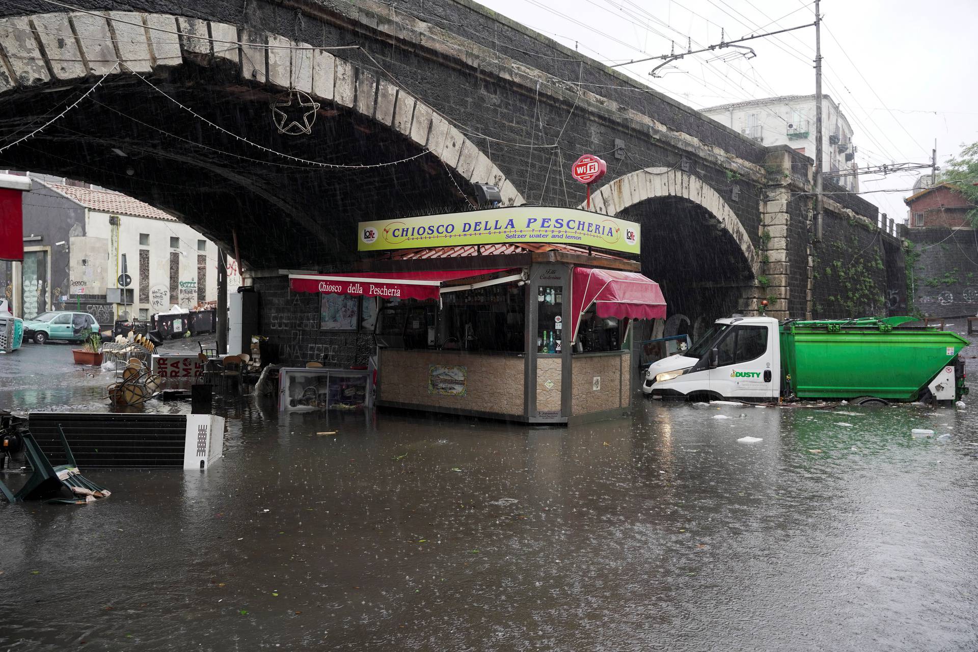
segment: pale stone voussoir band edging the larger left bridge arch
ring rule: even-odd
[[[116,62],[152,74],[185,61],[237,65],[242,80],[295,88],[354,110],[430,151],[470,183],[497,186],[504,204],[523,203],[503,172],[446,117],[328,49],[168,14],[60,12],[0,19],[0,96],[19,88],[70,85],[110,73]]]

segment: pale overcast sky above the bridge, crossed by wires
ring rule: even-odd
[[[481,0],[491,9],[602,63],[712,45],[750,33],[812,22],[806,0]],[[928,10],[933,11],[928,11]],[[939,163],[978,141],[978,2],[822,0],[822,91],[842,106],[860,167]],[[748,42],[749,61],[733,48],[696,55],[651,78],[656,63],[620,67],[666,95],[701,109],[778,95],[815,93],[815,29]],[[726,55],[726,56],[724,56]],[[723,57],[723,59],[719,59]],[[727,61],[725,61],[727,60]],[[654,117],[654,116],[653,116]],[[903,197],[929,170],[861,177],[863,196],[898,220]],[[879,191],[887,192],[879,192]]]

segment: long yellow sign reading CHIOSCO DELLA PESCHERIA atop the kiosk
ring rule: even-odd
[[[639,225],[577,208],[513,206],[361,222],[359,251],[552,242],[638,255]]]

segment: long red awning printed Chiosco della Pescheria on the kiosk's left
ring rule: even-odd
[[[396,272],[354,274],[289,274],[289,288],[296,292],[380,296],[385,299],[437,299],[446,281],[471,279],[500,270],[453,270],[451,272]]]

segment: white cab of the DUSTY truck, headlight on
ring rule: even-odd
[[[642,391],[660,397],[729,397],[771,400],[780,395],[778,320],[731,317],[713,327],[683,354],[648,367]]]

